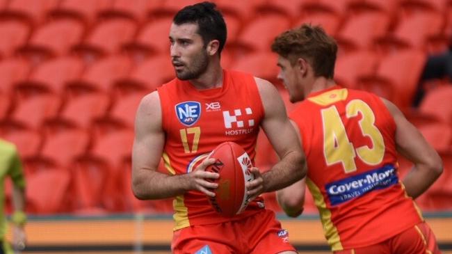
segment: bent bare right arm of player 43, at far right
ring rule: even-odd
[[[382,99],[396,122],[397,151],[414,164],[403,179],[408,196],[417,198],[442,173],[442,160],[438,153],[427,143],[422,134],[403,116],[403,113],[388,100]]]

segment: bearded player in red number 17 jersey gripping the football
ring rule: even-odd
[[[173,253],[296,253],[275,214],[255,198],[241,214],[220,216],[207,196],[218,173],[206,159],[225,141],[238,143],[254,161],[259,127],[281,160],[268,173],[252,172],[253,198],[305,176],[305,157],[273,85],[250,74],[223,70],[226,25],[213,3],[186,6],[170,28],[177,79],[146,95],[136,114],[132,187],[140,199],[175,197]],[[152,79],[152,77],[150,77]],[[163,157],[168,174],[156,169]],[[252,198],[251,198],[252,199]]]

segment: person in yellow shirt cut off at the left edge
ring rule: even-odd
[[[8,241],[6,241],[6,216],[4,214],[5,200],[5,179],[11,177],[13,180],[13,246],[17,250],[23,250],[26,244],[24,225],[26,222],[25,209],[25,177],[22,170],[22,163],[13,143],[0,139],[0,254],[13,254]]]

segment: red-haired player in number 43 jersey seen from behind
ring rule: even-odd
[[[337,44],[319,26],[280,34],[278,78],[307,154],[305,180],[277,192],[289,216],[302,212],[305,184],[320,212],[334,253],[439,253],[435,237],[412,200],[442,173],[442,161],[391,102],[334,83]],[[414,163],[398,179],[396,153]]]

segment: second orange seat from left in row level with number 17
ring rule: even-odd
[[[86,154],[90,140],[85,130],[58,118],[47,121],[43,129],[45,140],[40,156],[53,164],[70,166],[76,157]]]

